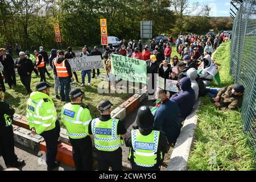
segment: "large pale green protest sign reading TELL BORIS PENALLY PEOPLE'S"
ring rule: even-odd
[[[112,54],[111,72],[122,80],[147,84],[146,61]]]

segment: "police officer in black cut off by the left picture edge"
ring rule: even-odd
[[[18,160],[14,153],[13,115],[15,110],[5,101],[5,94],[0,85],[0,155],[7,168],[23,166],[24,160]]]

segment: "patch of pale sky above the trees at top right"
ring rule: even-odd
[[[230,0],[189,0],[193,4],[199,2],[199,7],[208,5],[211,9],[210,16],[229,16]]]

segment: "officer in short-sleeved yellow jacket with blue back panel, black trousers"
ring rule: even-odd
[[[88,125],[92,121],[88,107],[82,104],[81,89],[73,89],[69,93],[71,102],[61,110],[61,121],[67,129],[73,147],[73,159],[77,171],[92,170],[92,140],[88,134]]]

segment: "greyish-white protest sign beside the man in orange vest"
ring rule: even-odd
[[[101,56],[74,57],[73,59],[68,59],[68,62],[73,72],[103,68]]]

